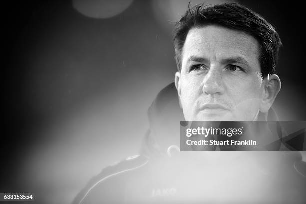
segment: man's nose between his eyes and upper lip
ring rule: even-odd
[[[216,67],[211,67],[204,77],[203,93],[207,95],[223,94],[222,74]]]

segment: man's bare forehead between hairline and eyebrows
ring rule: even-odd
[[[252,65],[259,64],[259,44],[251,35],[217,25],[192,28],[183,47],[182,63],[190,56],[222,60],[243,57]]]

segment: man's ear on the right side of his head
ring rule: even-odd
[[[276,74],[268,75],[263,79],[265,87],[260,104],[260,112],[266,113],[271,108],[278,92],[281,88],[281,82]]]

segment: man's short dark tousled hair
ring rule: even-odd
[[[214,6],[198,4],[190,8],[176,23],[174,29],[175,60],[181,71],[182,49],[189,30],[193,27],[219,25],[243,31],[259,43],[259,61],[262,77],[275,73],[279,47],[282,45],[275,28],[263,17],[238,3],[222,3]]]

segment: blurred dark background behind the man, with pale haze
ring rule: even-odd
[[[171,30],[188,2],[3,4],[0,192],[71,202],[103,167],[138,153],[146,110],[174,81]],[[274,105],[280,120],[306,120],[303,6],[238,2],[275,25],[282,39]]]

